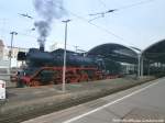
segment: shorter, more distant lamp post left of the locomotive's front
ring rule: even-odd
[[[11,42],[10,42],[10,53],[9,53],[9,56],[10,56],[10,63],[9,63],[9,70],[10,70],[10,75],[11,75],[11,57],[12,57],[12,47],[13,47],[13,35],[18,35],[16,32],[11,32]]]

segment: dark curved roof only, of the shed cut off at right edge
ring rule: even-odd
[[[142,56],[151,62],[165,64],[165,40],[148,46],[146,49],[144,49]]]

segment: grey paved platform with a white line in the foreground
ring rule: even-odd
[[[23,123],[164,123],[165,78]]]

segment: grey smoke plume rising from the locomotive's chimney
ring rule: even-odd
[[[59,19],[64,14],[63,0],[34,0],[34,7],[42,18],[42,20],[34,23],[40,34],[37,42],[41,47],[44,47],[53,20]]]

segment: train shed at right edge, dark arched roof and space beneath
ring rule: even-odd
[[[158,41],[141,54],[141,75],[164,75],[165,71],[165,40]]]

